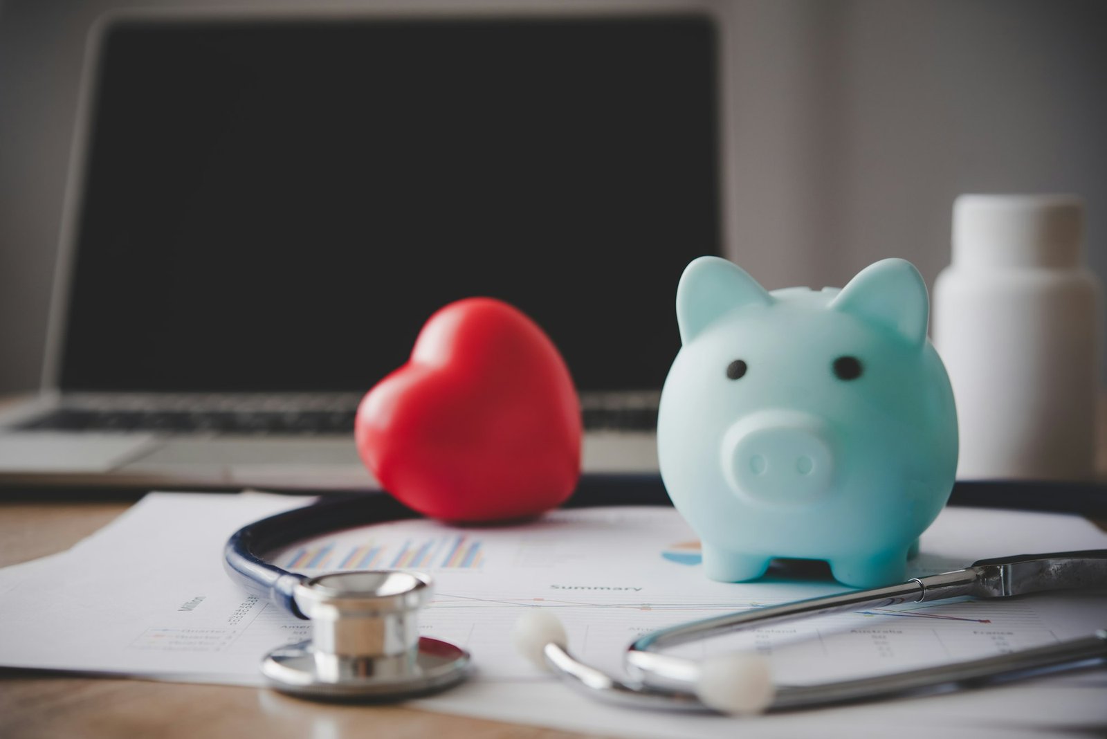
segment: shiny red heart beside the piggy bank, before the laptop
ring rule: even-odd
[[[448,521],[556,508],[580,476],[580,402],[541,329],[507,303],[446,305],[362,399],[358,451],[384,489]]]

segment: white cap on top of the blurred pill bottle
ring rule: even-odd
[[[958,267],[1080,264],[1084,201],[1073,195],[962,195],[953,202]]]

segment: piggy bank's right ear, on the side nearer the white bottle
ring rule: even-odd
[[[884,259],[866,267],[842,288],[830,308],[890,329],[912,345],[922,346],[927,341],[927,283],[903,259]]]

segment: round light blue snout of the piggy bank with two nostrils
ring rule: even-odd
[[[834,451],[826,424],[790,410],[738,420],[723,437],[723,475],[735,495],[764,503],[804,503],[830,488]]]

